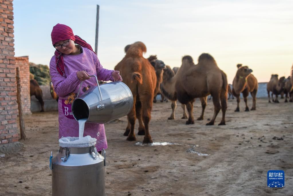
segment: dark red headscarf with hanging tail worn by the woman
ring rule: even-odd
[[[55,43],[61,41],[61,40],[68,40],[71,39],[75,43],[88,48],[89,50],[93,51],[93,48],[91,45],[86,43],[85,40],[81,39],[79,36],[74,36],[72,29],[64,24],[57,24],[53,27],[52,33],[51,33],[51,38],[52,38],[52,44],[55,45]],[[59,52],[58,50],[55,51],[54,53],[55,58],[56,58],[56,69],[60,73],[60,75],[63,76],[64,74],[64,60],[62,53]]]

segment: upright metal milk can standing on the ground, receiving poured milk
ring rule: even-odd
[[[105,152],[105,151],[104,151]],[[96,147],[62,148],[52,159],[53,196],[104,196],[105,154]],[[52,156],[51,156],[52,157]]]

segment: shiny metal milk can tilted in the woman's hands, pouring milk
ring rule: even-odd
[[[96,77],[98,83],[96,75],[89,77]],[[77,121],[87,119],[87,122],[105,124],[126,116],[133,106],[131,90],[123,82],[98,84],[89,88],[81,97],[78,97],[79,92],[71,106],[72,114]]]

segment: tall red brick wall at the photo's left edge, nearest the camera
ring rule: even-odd
[[[0,144],[18,141],[12,0],[0,0]]]

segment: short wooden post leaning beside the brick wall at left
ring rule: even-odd
[[[16,86],[17,86],[17,104],[18,104],[18,116],[19,116],[19,127],[20,127],[20,135],[21,139],[25,140],[25,126],[23,119],[23,110],[22,110],[22,102],[21,102],[21,85],[20,85],[20,74],[19,67],[16,67]]]

